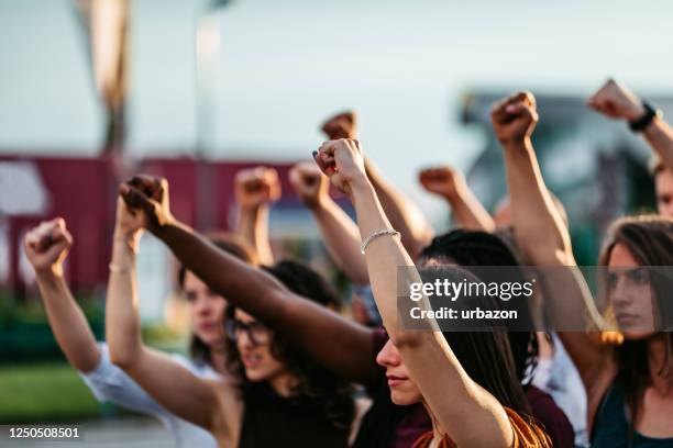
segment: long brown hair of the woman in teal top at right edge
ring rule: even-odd
[[[641,215],[617,220],[606,236],[598,257],[600,266],[608,266],[615,246],[625,246],[640,266],[673,266],[673,219],[660,215]],[[653,306],[660,322],[670,323],[673,301],[670,299],[670,281],[659,276],[650,277]],[[669,288],[666,288],[666,283]],[[662,333],[658,333],[661,336]],[[631,433],[640,417],[642,397],[651,384],[651,376],[662,373],[673,356],[673,333],[663,333],[666,341],[666,356],[658,371],[650,371],[647,357],[647,340],[629,340],[615,347],[617,363],[616,382],[624,391],[631,414]]]

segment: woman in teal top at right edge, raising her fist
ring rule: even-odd
[[[518,244],[536,265],[565,267],[560,271],[564,275],[547,279],[544,296],[552,312],[567,315],[572,310],[584,317],[586,310],[575,312],[570,299],[591,304],[592,298],[584,278],[573,269],[570,235],[552,204],[530,141],[538,120],[534,98],[522,92],[505,99],[494,108],[492,120],[505,149]],[[607,271],[608,304],[624,343],[608,344],[598,331],[559,332],[586,389],[592,446],[673,446],[673,339],[661,321],[657,325],[652,320],[655,310],[661,316],[671,309],[670,285],[658,287],[653,270],[642,269],[673,265],[673,221],[658,216],[618,221],[599,264]]]

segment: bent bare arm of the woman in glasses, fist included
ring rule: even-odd
[[[213,430],[213,424],[221,419],[211,382],[197,378],[142,341],[135,271],[139,227],[129,231],[134,217],[125,208],[119,200],[106,305],[110,359],[169,412]]]

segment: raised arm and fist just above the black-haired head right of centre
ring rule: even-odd
[[[450,167],[424,169],[419,175],[423,188],[444,199],[459,227],[470,231],[493,232],[495,222],[474,195],[463,173]]]

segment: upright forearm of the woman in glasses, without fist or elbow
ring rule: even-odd
[[[106,338],[110,359],[124,370],[139,362],[143,350],[136,287],[135,254],[115,237],[108,280]]]

